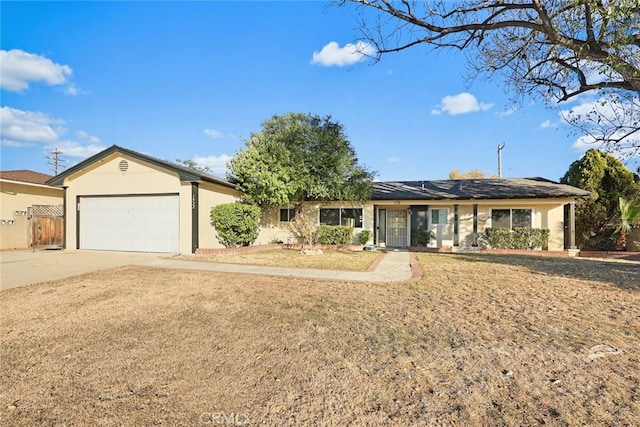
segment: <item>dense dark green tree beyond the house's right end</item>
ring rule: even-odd
[[[571,164],[561,182],[591,192],[576,202],[576,243],[582,249],[612,249],[620,198],[640,199],[640,177],[616,157],[588,150]]]

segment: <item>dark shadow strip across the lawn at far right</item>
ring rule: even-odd
[[[514,265],[543,274],[611,283],[627,290],[640,291],[640,263],[528,255],[455,254],[454,256],[469,262]]]

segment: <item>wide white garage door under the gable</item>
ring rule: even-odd
[[[80,198],[80,249],[179,252],[177,195]]]

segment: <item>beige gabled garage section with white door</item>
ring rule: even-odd
[[[194,253],[222,247],[211,208],[240,197],[223,179],[117,145],[48,184],[64,190],[66,249]]]

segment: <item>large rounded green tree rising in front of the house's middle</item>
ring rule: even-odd
[[[264,208],[307,200],[364,201],[374,173],[358,164],[344,126],[312,114],[276,115],[229,161],[228,178],[244,201]]]

